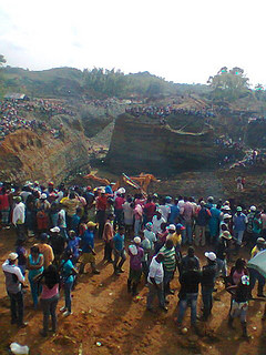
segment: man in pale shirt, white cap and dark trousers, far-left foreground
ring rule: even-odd
[[[6,288],[10,298],[11,324],[18,324],[19,327],[25,327],[24,323],[24,303],[21,285],[24,284],[24,276],[21,270],[16,265],[17,253],[10,253],[8,260],[2,264],[2,271],[6,276]]]

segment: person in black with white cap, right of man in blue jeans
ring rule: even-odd
[[[213,291],[216,277],[216,254],[206,252],[207,264],[202,270],[203,321],[207,321],[213,308]]]

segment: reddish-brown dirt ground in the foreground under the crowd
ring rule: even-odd
[[[0,232],[0,262],[6,260],[13,250],[13,232]],[[31,243],[27,244],[29,247]],[[197,251],[202,257],[205,247]],[[206,324],[200,322],[200,336],[190,329],[190,310],[186,313],[184,325],[188,333],[177,333],[174,318],[176,317],[178,282],[175,275],[172,286],[175,295],[168,296],[168,313],[156,308],[154,314],[145,311],[147,288],[144,282],[139,296],[132,297],[126,292],[129,260],[125,263],[125,273],[120,277],[113,276],[112,265],[103,265],[102,243],[96,243],[98,267],[100,275],[82,275],[76,290],[73,291],[73,314],[62,318],[59,314],[59,331],[47,338],[39,332],[42,327],[41,310],[33,311],[29,291],[25,294],[27,328],[18,329],[10,325],[9,298],[4,290],[4,276],[0,273],[0,354],[8,354],[11,342],[18,342],[30,347],[31,355],[127,355],[127,354],[157,354],[157,355],[190,355],[190,354],[242,354],[263,355],[265,351],[265,327],[262,322],[264,310],[263,301],[252,301],[248,310],[249,342],[241,337],[239,322],[236,329],[227,327],[229,295],[217,285],[218,292],[214,302],[213,317]],[[247,255],[246,251],[242,254]],[[61,295],[58,310],[63,305]],[[201,297],[198,300],[198,315],[201,314]],[[59,311],[58,311],[59,312]],[[100,346],[99,346],[100,345]]]

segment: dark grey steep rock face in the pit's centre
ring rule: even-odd
[[[183,132],[161,125],[158,120],[122,114],[115,122],[106,163],[116,172],[161,175],[207,170],[225,156],[214,140],[211,126],[201,133]]]

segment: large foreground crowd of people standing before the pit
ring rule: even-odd
[[[92,189],[52,182],[41,185],[28,182],[22,189],[1,184],[1,225],[12,224],[17,232],[16,250],[3,263],[6,285],[10,297],[11,323],[27,326],[23,320],[23,285],[25,272],[31,288],[32,304],[41,302],[43,329],[48,335],[49,317],[57,332],[59,288],[64,292],[63,316],[72,314],[71,292],[81,273],[99,274],[94,248],[98,237],[104,243],[104,262],[111,263],[114,277],[124,273],[130,258],[127,292],[137,295],[144,281],[149,287],[147,312],[154,312],[154,298],[167,312],[168,295],[174,294],[172,281],[177,277],[178,314],[176,325],[183,331],[186,308],[191,307],[191,324],[197,331],[197,300],[202,293],[202,321],[208,321],[213,307],[215,283],[222,277],[231,294],[228,326],[241,317],[243,336],[247,337],[248,300],[258,281],[258,297],[264,295],[265,277],[248,267],[243,258],[243,246],[250,247],[250,257],[266,248],[266,209],[235,205],[234,200],[215,202],[214,197],[126,194],[124,187],[112,190],[112,184]],[[24,243],[32,240],[28,252]],[[188,245],[187,252],[186,245]],[[203,247],[206,262],[197,257]],[[237,257],[228,272],[227,262]],[[201,288],[200,288],[201,286]],[[265,315],[264,315],[265,318]]]

